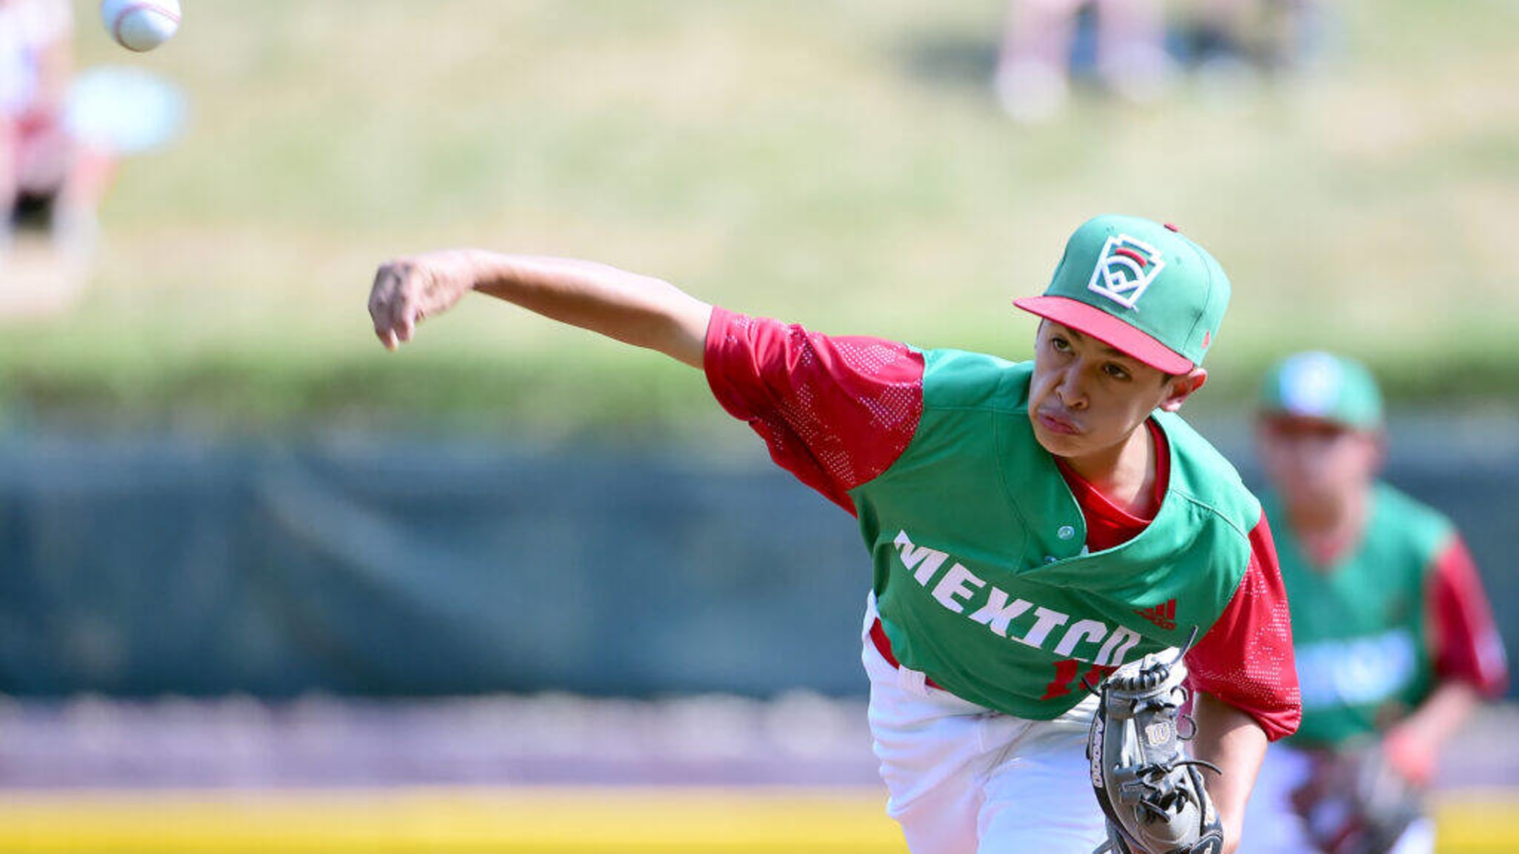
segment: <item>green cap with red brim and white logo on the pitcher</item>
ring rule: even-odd
[[[1015,305],[1167,374],[1203,363],[1229,305],[1229,277],[1174,225],[1135,216],[1082,223],[1042,296]]]

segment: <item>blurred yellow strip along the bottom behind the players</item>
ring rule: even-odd
[[[1437,804],[1440,854],[1513,854],[1519,790]],[[0,795],[8,854],[904,854],[878,789],[436,787]]]

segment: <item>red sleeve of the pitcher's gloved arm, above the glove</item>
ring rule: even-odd
[[[1186,653],[1188,682],[1249,714],[1271,742],[1303,717],[1293,622],[1265,514],[1250,530],[1250,565],[1224,612]]]

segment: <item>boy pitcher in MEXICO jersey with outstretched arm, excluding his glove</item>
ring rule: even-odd
[[[1268,740],[1297,726],[1291,628],[1259,503],[1176,410],[1229,299],[1174,228],[1083,223],[1033,362],[831,337],[600,264],[427,254],[380,267],[395,348],[478,290],[703,369],[772,457],[858,518],[870,728],[917,854],[1089,854],[1089,687],[1182,647],[1226,851]]]

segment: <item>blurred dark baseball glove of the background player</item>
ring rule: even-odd
[[[1423,790],[1375,743],[1315,755],[1291,802],[1325,854],[1385,854],[1423,814]]]

